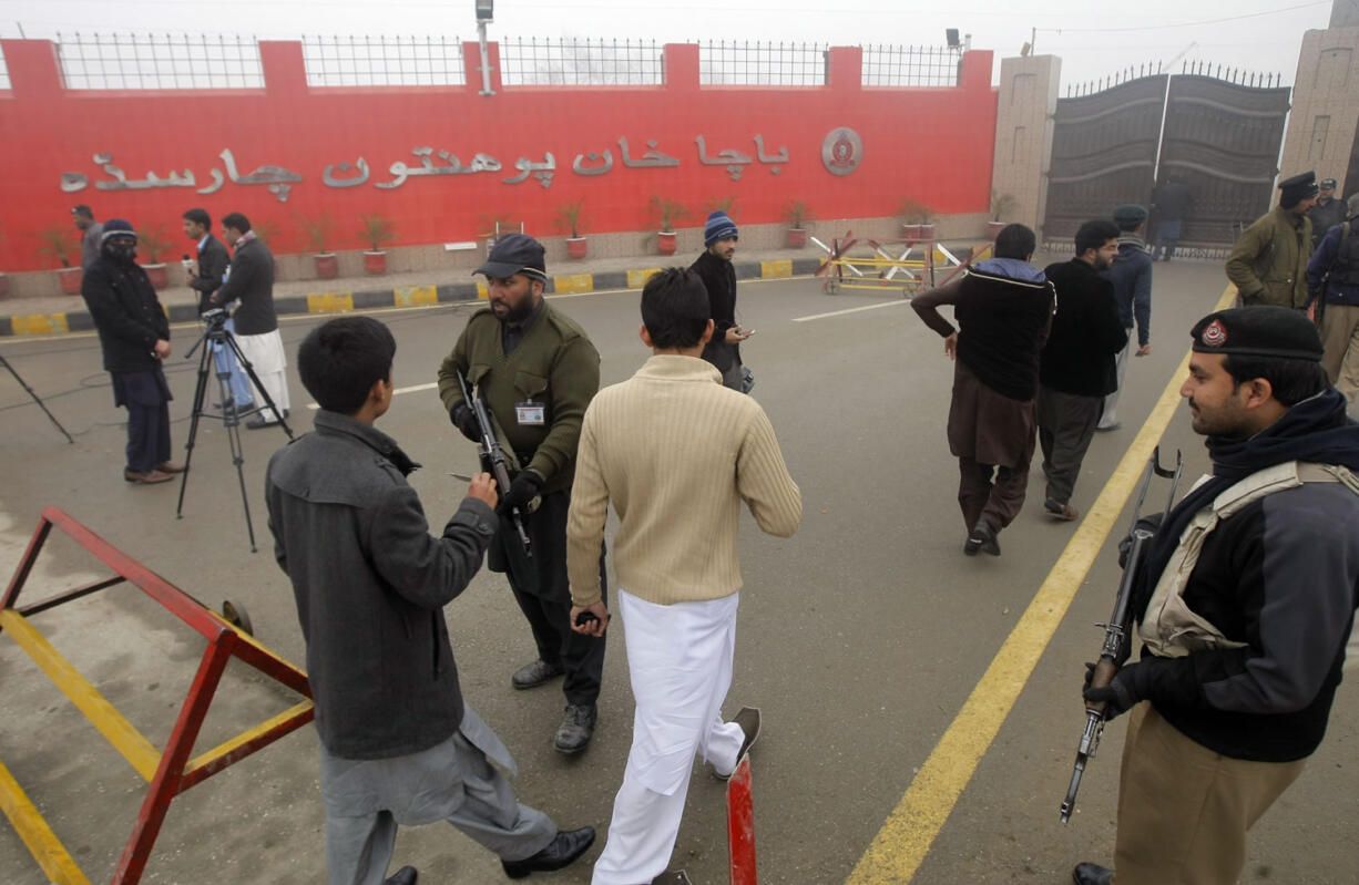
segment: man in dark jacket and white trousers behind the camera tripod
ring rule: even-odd
[[[254,369],[264,391],[251,390],[251,399],[260,407],[260,414],[246,422],[250,430],[279,423],[280,413],[288,414],[288,357],[283,352],[283,335],[279,334],[279,318],[273,309],[273,255],[269,247],[250,229],[250,219],[232,212],[222,220],[222,232],[227,243],[236,250],[231,258],[227,280],[211,301],[226,307],[239,301],[231,319],[236,326],[236,343],[241,353]],[[264,394],[273,400],[269,409]]]

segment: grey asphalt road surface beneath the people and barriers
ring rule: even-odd
[[[1072,501],[1082,512],[1176,375],[1190,324],[1212,309],[1224,285],[1210,263],[1157,265],[1155,273],[1154,352],[1129,368],[1123,428],[1098,434],[1091,445]],[[636,293],[553,304],[595,341],[603,383],[628,377],[646,360]],[[379,314],[398,341],[397,387],[417,388],[395,398],[379,428],[425,464],[412,482],[436,524],[462,491],[447,472],[472,468],[474,451],[424,385],[434,381],[470,309]],[[957,467],[943,432],[951,364],[938,335],[902,300],[875,292],[828,296],[811,280],[743,282],[741,320],[757,330],[745,346],[754,396],[802,486],[805,517],[790,540],[762,536],[749,516],[742,524],[746,585],[728,713],[754,704],[765,717],[753,755],[760,881],[844,882],[1063,558],[1076,525],[1042,516],[1036,466],[1025,512],[1000,535],[1003,555],[962,555]],[[318,322],[283,323],[289,353]],[[175,328],[174,343],[182,350],[192,335],[192,328]],[[0,380],[0,459],[8,478],[0,565],[14,567],[41,508],[57,505],[196,597],[213,605],[227,597],[245,603],[255,635],[300,661],[291,592],[272,561],[264,517],[264,468],[283,433],[242,437],[260,536],[260,551],[251,554],[219,426],[200,429],[183,519],[175,519],[177,485],[133,487],[120,476],[122,413],[113,407],[94,339],[8,339],[0,353],[76,437],[68,445],[22,388]],[[173,358],[177,447],[188,433],[196,365],[179,353]],[[289,376],[294,422],[303,430],[310,399],[295,369]],[[1190,476],[1205,468],[1182,407],[1163,444],[1184,451]],[[1114,536],[1124,520],[1114,520]],[[1098,650],[1101,631],[1091,624],[1108,616],[1117,581],[1110,550],[1112,542],[1095,557],[1051,642],[1046,635],[1019,639],[1037,657],[1031,676],[995,740],[981,741],[984,755],[970,778],[945,766],[961,795],[955,805],[931,808],[942,828],[924,840],[927,851],[911,881],[1057,885],[1070,881],[1078,861],[1110,862],[1121,722],[1108,729],[1072,823],[1057,821],[1082,722],[1082,662]],[[99,574],[69,544],[56,544],[53,554],[35,574],[39,585],[69,586]],[[609,641],[595,741],[582,757],[563,759],[550,747],[563,706],[557,688],[510,688],[510,673],[533,657],[533,643],[504,578],[480,573],[448,605],[447,618],[469,702],[516,755],[522,801],[563,825],[593,824],[602,836],[631,740],[621,635]],[[34,623],[152,742],[164,742],[201,642],[128,586],[45,612]],[[144,791],[140,778],[3,635],[0,685],[0,760],[91,880],[110,878]],[[1242,881],[1356,881],[1356,700],[1355,687],[1343,685],[1326,744],[1252,835]],[[288,692],[232,665],[200,747],[289,703]],[[727,881],[723,813],[723,785],[696,772],[673,865],[688,867],[699,885]],[[322,828],[315,736],[307,728],[179,798],[144,881],[315,882],[323,870]],[[602,843],[588,856],[599,848]],[[887,846],[889,855],[904,850]],[[420,867],[421,882],[503,878],[492,856],[442,825],[402,831],[397,862]],[[906,881],[892,869],[870,863],[856,881]],[[46,881],[8,825],[0,825],[0,881]],[[553,881],[587,882],[588,867]]]

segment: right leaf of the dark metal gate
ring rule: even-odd
[[[1158,178],[1189,187],[1182,244],[1230,244],[1269,210],[1288,99],[1288,88],[1171,77]]]

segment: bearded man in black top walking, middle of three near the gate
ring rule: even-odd
[[[1118,387],[1114,354],[1128,343],[1118,319],[1113,284],[1099,271],[1118,254],[1118,225],[1086,221],[1076,231],[1076,257],[1048,265],[1044,274],[1057,289],[1052,334],[1038,361],[1038,444],[1049,516],[1074,520],[1071,493],[1080,462],[1104,410],[1104,398]]]

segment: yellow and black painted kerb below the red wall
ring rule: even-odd
[[[652,273],[670,265],[688,266],[696,255],[633,255],[565,262],[549,267],[548,292],[601,292],[640,289]],[[815,271],[825,255],[815,247],[772,250],[735,261],[738,280],[769,280]],[[360,308],[413,307],[485,297],[485,286],[465,269],[344,277],[336,280],[289,280],[273,286],[273,303],[280,315],[334,314]],[[480,292],[478,292],[480,289]],[[190,322],[198,316],[197,292],[171,286],[160,293],[170,320]],[[0,337],[60,335],[90,331],[94,322],[80,296],[8,299],[0,303]]]

